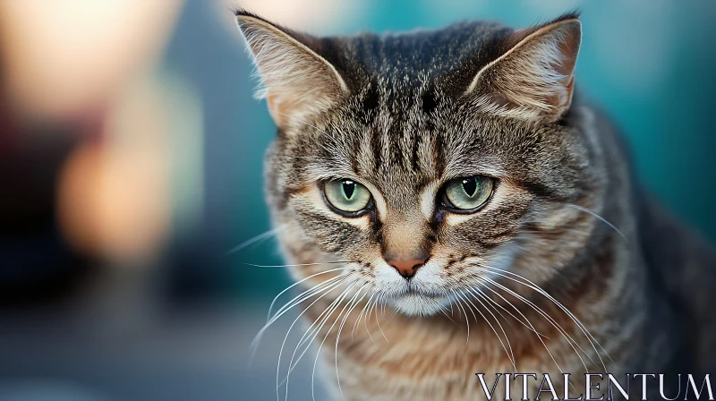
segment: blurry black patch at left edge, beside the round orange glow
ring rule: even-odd
[[[77,141],[63,127],[31,127],[0,108],[0,303],[56,303],[90,274],[55,224],[55,182]],[[50,141],[31,142],[33,138]]]

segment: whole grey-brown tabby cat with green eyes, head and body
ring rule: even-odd
[[[577,13],[330,38],[235,15],[304,289],[281,311],[302,305],[331,397],[479,399],[477,372],[575,388],[588,371],[716,372],[716,258],[575,92]]]

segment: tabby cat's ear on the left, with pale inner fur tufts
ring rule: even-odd
[[[311,48],[320,47],[318,39],[243,10],[235,15],[260,75],[256,97],[266,98],[278,127],[302,124],[348,92],[336,68]]]

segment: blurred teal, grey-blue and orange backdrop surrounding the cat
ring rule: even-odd
[[[319,35],[581,9],[580,90],[645,186],[716,241],[716,2],[0,0],[0,399],[276,397],[295,313],[249,366],[290,282],[251,266],[281,263],[261,184],[274,127],[236,5]],[[308,359],[291,399],[311,399]]]

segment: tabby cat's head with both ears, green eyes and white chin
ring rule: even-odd
[[[575,14],[345,38],[237,20],[278,127],[279,238],[294,263],[341,263],[295,277],[345,266],[346,284],[432,314],[499,271],[550,277],[585,241],[592,220],[567,206],[600,183],[570,110]]]

